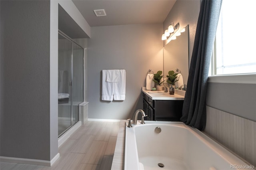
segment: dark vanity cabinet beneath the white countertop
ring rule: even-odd
[[[143,110],[147,121],[180,121],[183,100],[152,100],[143,95]]]

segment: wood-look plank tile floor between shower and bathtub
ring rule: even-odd
[[[119,122],[88,121],[60,146],[51,166],[0,162],[1,170],[110,170]]]

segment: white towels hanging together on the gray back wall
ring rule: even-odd
[[[109,71],[109,79],[107,81]],[[117,76],[113,76],[111,71]],[[104,101],[125,100],[126,75],[125,70],[102,70],[102,97]],[[115,75],[115,74],[114,74]],[[114,77],[114,79],[112,79]],[[109,82],[111,81],[111,82]]]

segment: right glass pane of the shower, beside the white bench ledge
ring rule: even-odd
[[[84,101],[84,49],[73,42],[72,125],[79,121],[79,104]]]

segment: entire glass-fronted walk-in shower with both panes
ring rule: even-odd
[[[80,121],[84,102],[84,49],[59,31],[58,34],[58,136]]]

